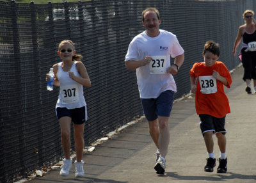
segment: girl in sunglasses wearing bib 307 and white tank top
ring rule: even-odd
[[[58,55],[62,61],[54,64],[52,68],[55,75],[54,85],[60,86],[56,115],[60,122],[61,143],[65,156],[60,175],[68,176],[72,167],[70,125],[73,122],[76,148],[75,177],[83,177],[84,122],[88,118],[83,86],[90,87],[91,81],[83,62],[81,62],[83,56],[76,54],[74,43],[71,40],[60,42]],[[48,74],[46,80],[49,81]]]

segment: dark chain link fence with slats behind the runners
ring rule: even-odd
[[[256,2],[0,2],[0,182],[19,180],[63,155],[55,115],[58,88],[48,92],[45,81],[49,68],[61,61],[61,40],[76,43],[92,81],[91,88],[84,88],[90,118],[85,145],[143,115],[136,72],[125,68],[124,58],[132,38],[144,30],[141,12],[147,7],[159,10],[161,29],[177,35],[185,50],[184,65],[175,76],[178,99],[190,91],[189,70],[203,61],[207,40],[220,43],[220,61],[229,70],[239,65],[232,47],[243,24],[242,13],[255,10]]]

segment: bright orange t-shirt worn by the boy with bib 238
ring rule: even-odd
[[[196,113],[198,115],[211,115],[216,118],[223,118],[227,113],[230,113],[228,97],[224,92],[224,84],[212,77],[213,70],[216,70],[220,76],[227,79],[227,88],[230,88],[232,83],[230,73],[221,61],[216,61],[212,67],[206,67],[204,62],[195,63],[190,70],[190,76],[198,78],[195,97]],[[201,87],[203,90],[201,90]],[[205,94],[205,88],[211,88],[211,90],[206,92],[209,94]]]

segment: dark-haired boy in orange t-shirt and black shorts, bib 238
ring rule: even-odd
[[[196,113],[200,117],[200,129],[204,136],[209,157],[204,171],[212,172],[216,166],[212,134],[216,134],[220,148],[218,173],[227,172],[225,116],[230,113],[223,85],[230,88],[232,79],[220,58],[220,45],[208,41],[204,45],[204,62],[195,63],[190,70],[191,92],[195,93]],[[196,79],[198,82],[196,84]]]

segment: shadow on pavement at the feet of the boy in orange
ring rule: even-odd
[[[256,180],[256,175],[243,175],[239,173],[218,173],[218,174],[210,174],[205,176],[194,176],[194,175],[179,175],[176,172],[166,172],[165,175],[159,175],[159,177],[170,177],[175,180],[208,180],[208,181],[223,181],[223,180],[231,180],[231,179],[240,179],[240,180]]]

